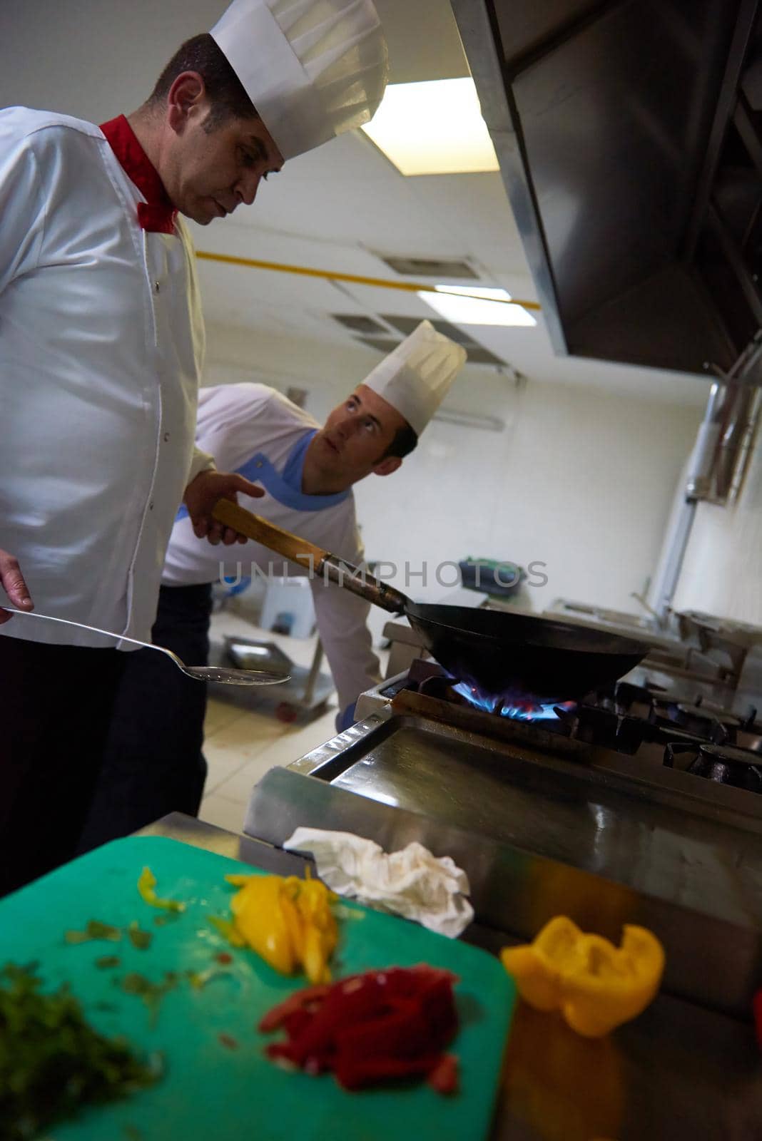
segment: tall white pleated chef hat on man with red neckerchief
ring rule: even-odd
[[[383,97],[372,0],[233,0],[211,35],[284,159],[370,122]]]

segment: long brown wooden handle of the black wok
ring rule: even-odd
[[[248,539],[253,539],[262,547],[268,547],[292,563],[306,567],[310,574],[321,575],[324,581],[334,582],[374,606],[381,606],[392,614],[402,614],[410,605],[406,594],[374,578],[364,567],[346,563],[337,555],[331,555],[307,539],[292,535],[290,531],[284,531],[283,527],[277,527],[261,516],[246,511],[230,500],[218,500],[212,509],[212,516]]]

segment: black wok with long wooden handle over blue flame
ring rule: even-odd
[[[229,500],[212,515],[253,539],[394,614],[404,614],[436,661],[485,695],[506,693],[573,701],[616,681],[646,656],[646,642],[528,614],[473,610],[464,606],[413,602],[305,539],[274,526]]]

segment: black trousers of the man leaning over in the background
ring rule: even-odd
[[[186,665],[205,665],[211,609],[211,584],[162,586],[152,640]],[[80,851],[168,812],[196,816],[204,791],[206,682],[188,678],[152,649],[122,656],[127,662]]]

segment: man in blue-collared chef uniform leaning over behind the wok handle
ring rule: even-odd
[[[230,471],[256,479],[261,499],[241,503],[348,563],[363,561],[352,484],[388,477],[418,442],[465,361],[465,350],[421,322],[331,412],[323,428],[266,385],[200,393],[196,444]],[[180,510],[167,552],[154,641],[205,661],[211,584],[258,572],[305,575],[259,543],[222,552],[194,534]],[[317,626],[339,695],[338,728],[351,723],[357,696],[379,680],[368,604],[311,578]],[[141,661],[153,657],[154,661]],[[169,667],[168,667],[169,666]],[[122,680],[98,793],[83,848],[125,835],[171,811],[198,811],[205,687],[143,650]]]

